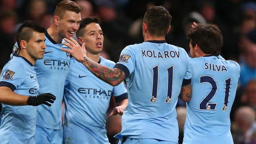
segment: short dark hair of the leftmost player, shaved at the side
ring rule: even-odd
[[[25,21],[18,29],[16,39],[20,48],[20,41],[28,42],[33,37],[33,31],[44,33],[45,28],[33,20]]]

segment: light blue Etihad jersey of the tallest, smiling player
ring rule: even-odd
[[[51,107],[47,105],[37,106],[36,125],[48,129],[62,129],[61,102],[65,80],[69,72],[70,54],[60,50],[60,48],[67,48],[67,46],[56,43],[47,32],[45,32],[45,38],[44,57],[36,61],[34,68],[39,83],[39,94],[52,93],[56,96],[56,100]],[[17,42],[15,46],[17,46]]]

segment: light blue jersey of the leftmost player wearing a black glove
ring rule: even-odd
[[[14,56],[2,70],[0,86],[20,95],[38,95],[34,66],[24,57]],[[35,144],[36,107],[2,106],[0,144]]]

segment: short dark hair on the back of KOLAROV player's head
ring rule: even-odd
[[[151,35],[166,35],[172,16],[163,6],[150,7],[144,15],[143,22],[148,25]]]

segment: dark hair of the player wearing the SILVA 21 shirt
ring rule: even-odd
[[[198,24],[195,29],[189,30],[187,39],[193,47],[197,44],[205,54],[219,55],[223,45],[221,30],[215,24]]]

